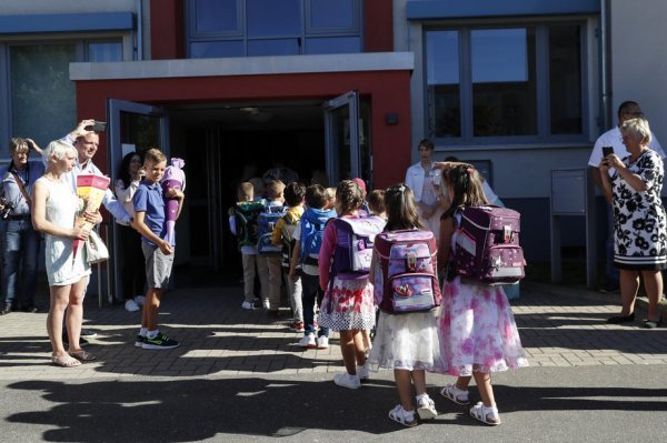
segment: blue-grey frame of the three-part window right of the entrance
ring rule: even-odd
[[[549,27],[557,26],[576,26],[579,27],[579,46],[580,46],[580,94],[581,94],[581,132],[577,134],[551,134],[550,133],[550,82],[549,82]],[[537,133],[528,135],[492,135],[492,137],[476,137],[474,135],[474,97],[472,97],[472,52],[471,52],[471,33],[475,30],[487,29],[517,29],[517,28],[535,28],[535,74],[536,74],[536,109],[537,109]],[[458,36],[458,63],[459,63],[459,119],[460,119],[460,137],[436,137],[435,129],[431,129],[430,122],[432,115],[430,113],[429,84],[428,84],[428,50],[427,50],[427,33],[432,31],[456,31]],[[588,66],[586,63],[588,57],[588,47],[586,44],[586,36],[588,32],[587,22],[585,19],[576,20],[537,20],[537,21],[507,21],[507,22],[461,22],[450,24],[428,24],[424,26],[422,32],[422,60],[424,60],[424,133],[428,134],[434,142],[442,147],[474,147],[506,144],[527,144],[527,143],[571,143],[586,142],[590,133],[589,124],[589,103],[588,103]],[[500,149],[500,147],[498,147]]]

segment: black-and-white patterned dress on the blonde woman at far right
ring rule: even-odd
[[[663,270],[667,268],[667,223],[660,200],[663,160],[647,150],[634,162],[623,160],[634,174],[648,185],[635,191],[615,171],[614,192],[614,263],[617,268]]]

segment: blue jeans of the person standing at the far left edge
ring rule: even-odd
[[[39,232],[32,229],[30,218],[7,220],[3,240],[2,290],[4,302],[12,305],[19,302],[24,308],[32,306],[37,290]],[[17,300],[19,280],[20,295]]]

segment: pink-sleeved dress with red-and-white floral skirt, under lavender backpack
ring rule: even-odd
[[[326,290],[320,305],[319,324],[332,331],[370,330],[375,326],[375,304],[372,284],[368,282],[368,276],[357,280],[334,278],[334,284],[329,284],[336,241],[336,226],[328,223],[318,260],[320,288]]]

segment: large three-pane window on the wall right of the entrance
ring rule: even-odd
[[[427,30],[425,42],[429,137],[584,138],[581,24]]]

